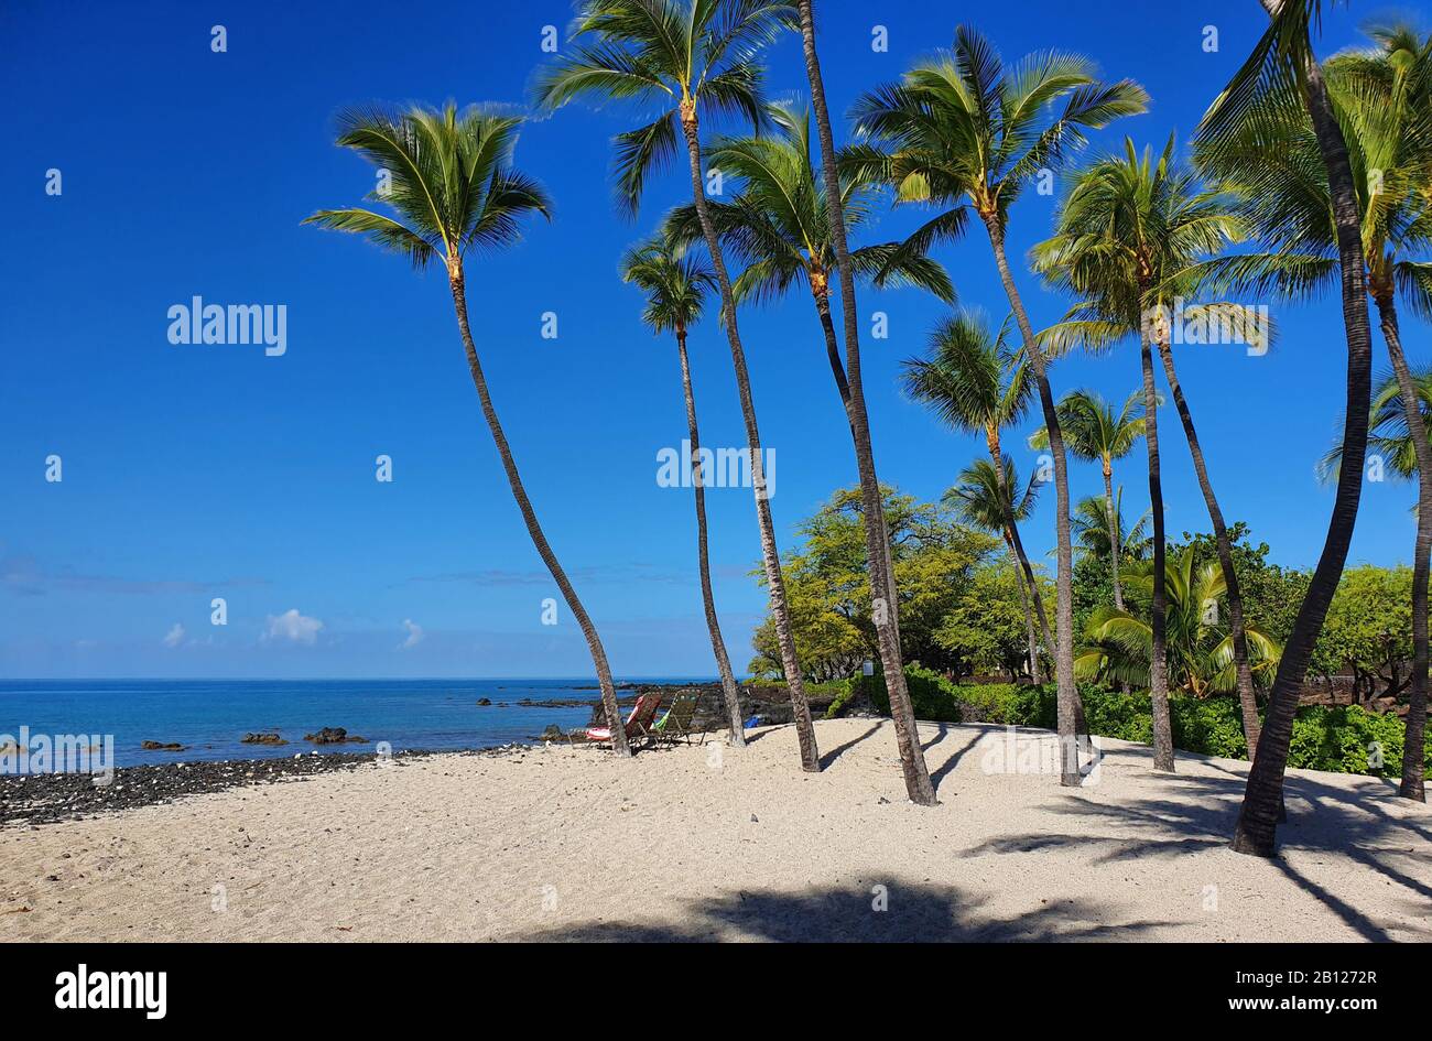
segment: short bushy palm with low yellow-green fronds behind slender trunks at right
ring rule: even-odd
[[[1166,564],[1169,686],[1191,697],[1229,694],[1237,690],[1237,669],[1233,634],[1221,624],[1219,610],[1227,597],[1223,568],[1216,561],[1194,566],[1193,557],[1193,547],[1187,547]],[[1151,561],[1130,568],[1130,584],[1153,593]],[[1246,634],[1253,676],[1266,686],[1277,666],[1277,641],[1256,626],[1249,626]],[[1146,686],[1151,653],[1153,626],[1147,619],[1127,610],[1100,609],[1088,620],[1074,669],[1085,680]]]

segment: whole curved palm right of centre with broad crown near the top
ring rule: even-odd
[[[1031,54],[1007,67],[988,40],[961,26],[954,52],[918,63],[899,83],[856,103],[861,130],[889,149],[866,146],[863,160],[895,186],[896,199],[948,208],[919,233],[958,233],[968,209],[984,223],[1024,339],[1054,457],[1060,783],[1068,786],[1080,783],[1068,474],[1045,358],[1035,348],[1005,236],[1010,208],[1035,173],[1057,168],[1085,129],[1143,112],[1147,100],[1131,80],[1100,82],[1093,63],[1077,54]]]

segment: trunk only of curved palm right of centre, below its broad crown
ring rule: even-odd
[[[1010,259],[1005,256],[1004,229],[1000,226],[998,218],[994,216],[985,221],[985,229],[990,232],[990,245],[994,248],[994,262],[1000,269],[1000,281],[1004,284],[1010,308],[1020,324],[1024,352],[1034,368],[1034,378],[1040,388],[1040,407],[1044,411],[1044,427],[1050,434],[1050,454],[1054,457],[1054,531],[1058,543],[1058,576],[1055,580],[1058,633],[1054,643],[1054,672],[1058,682],[1060,785],[1077,788],[1080,783],[1078,733],[1084,727],[1078,725],[1083,706],[1080,705],[1078,686],[1074,683],[1074,553],[1070,547],[1070,484],[1068,463],[1064,457],[1064,434],[1060,430],[1054,392],[1050,389],[1050,379],[1044,369],[1044,352],[1034,342],[1034,326],[1030,325],[1030,315],[1024,309],[1024,299],[1014,284]]]

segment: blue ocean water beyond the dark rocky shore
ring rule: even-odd
[[[689,682],[662,677],[643,683]],[[619,694],[623,692],[617,692]],[[480,697],[493,705],[478,706]],[[269,759],[296,752],[475,749],[527,742],[550,723],[584,726],[590,707],[536,709],[531,700],[597,700],[596,680],[0,680],[0,743],[32,735],[115,739],[115,765],[196,759]],[[325,726],[367,745],[315,746]],[[242,745],[245,733],[278,732],[288,745]],[[183,752],[145,752],[145,740]]]

